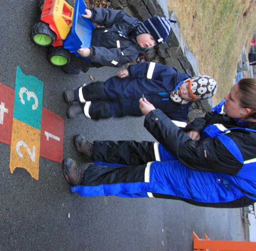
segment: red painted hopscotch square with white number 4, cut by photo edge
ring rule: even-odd
[[[0,83],[0,141],[11,145],[14,90]]]

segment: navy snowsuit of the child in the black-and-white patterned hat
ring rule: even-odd
[[[130,65],[127,70],[127,77],[110,77],[106,82],[94,82],[76,90],[76,99],[86,101],[82,106],[85,115],[92,119],[142,116],[138,101],[144,94],[147,101],[169,118],[187,121],[192,102],[175,103],[170,99],[170,93],[190,77],[188,74],[153,62]]]

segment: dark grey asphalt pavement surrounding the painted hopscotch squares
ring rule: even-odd
[[[72,3],[73,1],[70,1]],[[36,0],[1,1],[0,82],[14,89],[16,68],[44,83],[43,107],[64,118],[64,157],[82,164],[73,135],[89,140],[154,140],[143,117],[92,121],[66,117],[63,91],[106,81],[118,68],[65,74],[47,61],[47,48],[30,33],[39,19]],[[71,194],[62,164],[40,157],[39,180],[9,170],[10,146],[0,143],[0,250],[192,250],[192,231],[210,239],[245,240],[240,209],[200,208],[154,198],[79,197]],[[70,217],[68,217],[68,215]]]

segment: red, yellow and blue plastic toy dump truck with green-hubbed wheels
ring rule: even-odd
[[[86,8],[83,0],[76,0],[74,8],[64,0],[38,1],[41,18],[32,29],[31,40],[40,46],[51,46],[48,53],[50,64],[64,66],[70,62],[70,53],[81,57],[76,50],[90,48],[95,26],[81,16]]]

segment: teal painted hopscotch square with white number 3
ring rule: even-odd
[[[17,67],[13,116],[41,130],[43,82]]]

